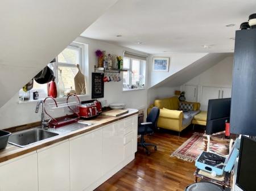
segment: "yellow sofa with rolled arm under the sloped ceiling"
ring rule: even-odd
[[[152,107],[154,106],[158,107],[160,109],[160,114],[158,118],[158,127],[181,132],[183,129],[187,128],[187,126],[190,125],[191,122],[189,124],[183,125],[182,123],[183,112],[178,111],[179,103],[180,101],[176,96],[155,100],[155,103],[150,105],[150,107],[147,109],[147,114],[151,111]],[[185,103],[193,104],[194,111],[197,111],[200,109],[200,103],[196,103],[196,102],[185,102]]]

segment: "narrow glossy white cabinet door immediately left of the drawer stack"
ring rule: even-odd
[[[124,159],[124,121],[103,127],[102,164],[108,173]]]

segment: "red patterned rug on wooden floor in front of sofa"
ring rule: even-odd
[[[213,140],[210,141],[210,151],[221,155],[228,155],[229,143],[225,141],[214,141],[214,137],[221,137],[221,135],[216,134],[213,136]],[[206,150],[207,142],[204,138],[204,134],[194,133],[192,137],[185,141],[176,151],[172,152],[171,156],[176,156],[178,159],[188,162],[195,161],[201,152]]]

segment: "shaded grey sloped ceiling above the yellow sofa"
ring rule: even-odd
[[[233,53],[209,53],[150,88],[181,86],[228,56],[233,56]]]

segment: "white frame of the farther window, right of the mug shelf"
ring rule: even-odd
[[[129,88],[123,88],[123,91],[129,91],[129,90],[139,90],[139,89],[144,89],[146,88],[146,61],[145,61],[145,74],[142,74],[142,71],[143,71],[143,60],[140,60],[140,59],[137,59],[137,58],[130,58],[130,57],[123,57],[123,59],[129,59],[129,69],[127,68],[123,68],[124,70],[127,70],[127,75],[128,75],[128,78],[129,78]],[[133,88],[131,89],[131,85],[133,83],[133,60],[137,60],[139,61],[139,75],[144,75],[144,80],[145,80],[145,83],[144,83],[144,87],[143,88]]]

